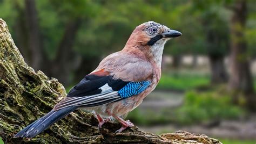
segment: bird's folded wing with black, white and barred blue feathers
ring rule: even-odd
[[[146,90],[150,81],[129,82],[114,79],[108,72],[99,70],[83,78],[68,96],[55,105],[53,110],[68,106],[92,107],[117,102]]]

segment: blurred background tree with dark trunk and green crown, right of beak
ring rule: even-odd
[[[230,44],[230,31],[228,31],[228,18],[230,13],[219,1],[194,3],[194,10],[200,11],[199,20],[204,30],[206,54],[211,64],[212,84],[227,82],[227,73],[224,58]]]

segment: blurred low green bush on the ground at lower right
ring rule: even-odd
[[[235,119],[245,111],[232,103],[232,97],[218,90],[186,92],[184,104],[179,107],[174,117],[178,123],[193,124],[202,121]]]

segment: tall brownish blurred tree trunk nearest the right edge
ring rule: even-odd
[[[250,71],[250,62],[247,56],[247,45],[244,35],[246,17],[246,1],[236,1],[233,8],[233,17],[231,19],[231,74],[229,87],[236,93],[245,93],[248,107],[256,107],[256,97],[251,96],[253,93],[253,79]],[[237,101],[238,99],[235,96],[235,102]]]

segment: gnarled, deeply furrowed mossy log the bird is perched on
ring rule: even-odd
[[[80,110],[59,120],[36,138],[15,139],[14,134],[49,112],[66,92],[56,78],[49,78],[42,71],[35,72],[24,62],[1,18],[0,54],[0,136],[6,143],[219,143],[206,135],[184,131],[157,135],[142,132],[136,126],[114,135],[120,123],[106,123],[98,131],[95,116]]]

